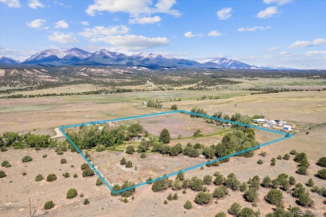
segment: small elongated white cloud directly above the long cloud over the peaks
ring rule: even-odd
[[[80,32],[78,35],[84,36],[86,38],[103,37],[103,36],[113,36],[120,34],[127,34],[129,28],[126,25],[112,25],[108,27],[95,26],[94,28],[83,29],[84,32]]]

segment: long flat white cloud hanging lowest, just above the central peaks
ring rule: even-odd
[[[167,46],[170,43],[169,39],[165,37],[148,38],[145,36],[137,36],[137,35],[107,36],[107,37],[96,38],[96,41],[103,41],[115,46],[128,47],[131,48],[132,50]]]

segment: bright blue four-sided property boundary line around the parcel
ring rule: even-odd
[[[102,123],[113,122],[113,121],[125,121],[125,120],[131,120],[131,119],[148,118],[148,117],[159,116],[159,115],[166,115],[166,114],[172,114],[172,113],[184,113],[184,114],[189,114],[189,115],[196,115],[196,116],[200,116],[200,117],[204,117],[204,118],[209,118],[209,119],[213,119],[213,120],[219,120],[219,121],[228,122],[228,123],[232,123],[232,124],[237,124],[237,125],[241,125],[241,126],[251,127],[251,128],[254,128],[254,129],[260,129],[260,130],[264,130],[264,131],[268,131],[268,132],[273,132],[273,133],[284,135],[285,137],[282,137],[280,139],[276,139],[276,140],[273,140],[273,141],[270,141],[270,142],[261,144],[259,146],[248,148],[246,150],[238,151],[236,153],[229,154],[229,155],[224,156],[224,157],[220,157],[220,158],[217,158],[217,159],[214,159],[214,160],[210,160],[210,161],[207,161],[207,162],[205,162],[203,164],[196,165],[196,166],[193,166],[193,167],[189,167],[187,169],[180,170],[178,172],[171,173],[171,174],[168,174],[168,175],[165,175],[165,176],[161,176],[161,177],[158,177],[158,178],[153,179],[153,180],[150,180],[150,181],[146,181],[146,182],[143,182],[143,183],[140,183],[140,184],[136,184],[136,185],[127,187],[125,189],[121,189],[120,191],[114,191],[114,189],[110,186],[110,184],[108,184],[106,182],[106,180],[102,177],[102,175],[95,169],[95,167],[91,164],[91,162],[85,157],[85,155],[83,154],[83,152],[79,150],[79,148],[75,145],[75,143],[68,137],[67,133],[63,130],[65,128],[70,128],[70,127],[87,126],[87,125],[92,125],[92,124],[102,124]],[[272,143],[280,142],[282,140],[285,140],[285,139],[288,139],[288,138],[293,137],[292,134],[289,134],[289,133],[286,133],[286,132],[276,131],[276,130],[272,130],[272,129],[266,129],[266,128],[262,128],[262,127],[258,127],[258,126],[253,126],[253,125],[249,125],[249,124],[243,124],[243,123],[239,123],[239,122],[235,122],[235,121],[230,121],[230,120],[225,120],[225,119],[221,119],[221,118],[215,118],[215,117],[212,117],[212,116],[202,115],[202,114],[198,114],[198,113],[194,113],[194,112],[188,112],[188,111],[185,111],[185,110],[175,110],[175,111],[162,112],[162,113],[154,113],[154,114],[148,114],[148,115],[140,115],[140,116],[132,116],[132,117],[118,118],[118,119],[111,119],[111,120],[104,120],[104,121],[94,121],[94,122],[88,122],[88,123],[82,123],[82,124],[66,125],[66,126],[59,127],[59,129],[65,135],[65,137],[67,138],[67,140],[79,152],[79,154],[82,155],[82,157],[86,160],[86,162],[90,165],[90,167],[95,171],[95,173],[102,179],[102,181],[105,183],[105,185],[108,188],[110,188],[110,190],[111,190],[111,192],[113,194],[119,194],[121,192],[128,191],[129,189],[140,187],[140,186],[143,186],[145,184],[150,184],[150,183],[152,183],[154,181],[157,181],[157,180],[160,180],[160,179],[165,179],[165,178],[168,178],[170,176],[177,175],[177,174],[182,173],[182,172],[193,170],[193,169],[196,169],[196,168],[205,166],[207,164],[212,164],[213,162],[216,162],[216,161],[219,161],[219,160],[223,160],[225,158],[229,158],[229,157],[232,157],[232,156],[235,156],[235,155],[238,155],[238,154],[247,152],[247,151],[255,150],[255,149],[258,149],[260,147],[263,147],[263,146],[266,146],[266,145],[270,145]]]

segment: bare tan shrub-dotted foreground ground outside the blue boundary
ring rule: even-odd
[[[219,167],[205,167],[204,170],[198,168],[188,171],[185,173],[185,176],[187,178],[193,176],[203,178],[204,175],[212,176],[215,171],[220,171],[224,176],[235,173],[239,181],[242,182],[247,181],[255,175],[258,175],[261,179],[268,175],[273,179],[281,173],[286,173],[289,176],[293,176],[297,182],[306,183],[309,178],[312,178],[316,185],[325,186],[323,180],[314,177],[316,171],[321,169],[315,165],[315,162],[316,159],[319,159],[324,154],[320,151],[324,150],[325,147],[325,142],[322,142],[322,140],[326,139],[323,133],[324,128],[325,125],[313,127],[309,134],[299,133],[293,138],[286,140],[286,143],[280,142],[263,147],[257,150],[252,158],[233,157],[229,162]],[[268,138],[264,134],[259,134],[258,136]],[[293,155],[291,155],[290,160],[277,160],[275,167],[269,165],[271,157],[276,157],[279,154],[284,155],[292,150],[293,147],[298,152],[307,153],[311,166],[306,176],[298,175],[294,172],[297,163],[292,160]],[[267,152],[266,157],[260,155],[262,151]],[[105,152],[97,153],[104,154]],[[20,158],[25,154],[30,154],[33,160],[22,163]],[[43,154],[47,154],[48,157],[42,158]],[[123,153],[120,153],[119,157],[122,155]],[[62,157],[67,159],[68,162],[66,164],[60,164],[60,158]],[[125,216],[125,210],[131,212],[130,216],[212,216],[219,211],[227,212],[227,209],[234,201],[238,202],[242,207],[252,207],[251,203],[243,200],[243,193],[229,191],[229,195],[219,199],[218,204],[215,204],[214,201],[211,201],[207,205],[197,205],[193,202],[193,208],[185,210],[182,208],[183,204],[186,200],[193,201],[197,194],[196,192],[187,189],[186,194],[182,194],[181,191],[178,191],[179,199],[177,201],[170,201],[167,205],[164,205],[164,200],[169,193],[174,194],[174,191],[168,189],[160,193],[153,193],[151,185],[137,188],[134,193],[135,199],[131,200],[128,198],[129,202],[125,204],[120,201],[120,197],[111,196],[106,186],[96,186],[96,175],[88,178],[82,177],[80,165],[84,163],[84,159],[77,153],[65,152],[64,155],[56,155],[53,150],[10,149],[7,152],[2,152],[0,160],[3,161],[4,159],[9,160],[12,164],[10,168],[3,168],[7,176],[0,179],[0,190],[2,192],[0,210],[5,216],[17,216],[17,213],[21,216],[29,215],[29,198],[31,198],[32,212],[36,210],[36,214],[44,213],[42,207],[46,201],[53,200],[56,203],[55,208],[47,212],[45,216],[105,216],[107,213],[115,216]],[[258,159],[262,159],[264,164],[256,164]],[[74,165],[74,168],[71,168],[70,165]],[[26,176],[21,175],[24,171],[27,173]],[[246,173],[243,173],[243,171],[246,171]],[[64,178],[61,175],[64,172],[69,172],[70,177]],[[139,172],[139,170],[133,172]],[[39,173],[44,177],[49,173],[55,173],[58,176],[58,180],[54,182],[46,182],[45,180],[35,182],[35,176]],[[72,174],[74,173],[77,173],[77,178],[72,178]],[[75,199],[68,200],[65,196],[71,187],[77,189],[78,196]],[[213,192],[215,188],[213,184],[207,185],[207,187],[210,192]],[[305,187],[306,189],[310,189],[310,187]],[[12,191],[13,188],[15,188],[14,193]],[[252,207],[254,210],[260,209],[260,216],[264,216],[266,213],[273,211],[272,208],[274,206],[267,204],[263,199],[268,191],[268,188],[260,187],[257,199],[258,206]],[[89,198],[89,205],[83,205],[84,198],[79,197],[80,193],[85,195],[84,198]],[[295,198],[285,192],[283,192],[283,195],[283,201],[286,207],[289,205],[297,206],[295,204]],[[310,195],[315,205],[306,209],[323,211],[324,204],[322,204],[322,200],[324,199],[312,193]]]

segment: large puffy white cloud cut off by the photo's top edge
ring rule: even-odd
[[[181,16],[178,10],[171,9],[176,3],[175,0],[159,0],[154,7],[151,7],[151,0],[143,1],[100,1],[95,0],[93,5],[89,5],[86,9],[88,15],[94,16],[96,12],[107,11],[111,13],[124,12],[130,14],[131,17],[151,15],[154,13],[165,13],[175,17]]]

